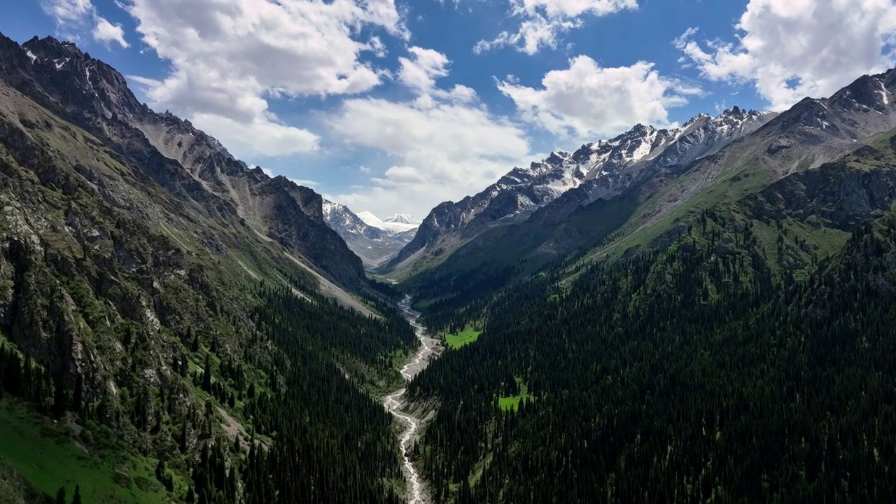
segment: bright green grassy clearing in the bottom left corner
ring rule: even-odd
[[[49,495],[65,487],[71,497],[79,484],[84,502],[91,504],[173,500],[155,479],[155,461],[124,451],[88,452],[73,442],[71,427],[39,417],[8,397],[0,401],[0,439],[0,459]],[[183,481],[175,479],[176,491],[183,489]]]

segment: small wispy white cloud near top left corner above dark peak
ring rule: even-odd
[[[117,42],[122,48],[129,47],[121,25],[100,16],[90,0],[41,0],[40,8],[53,18],[56,28],[67,39],[79,40],[79,32],[90,30],[98,42]]]

